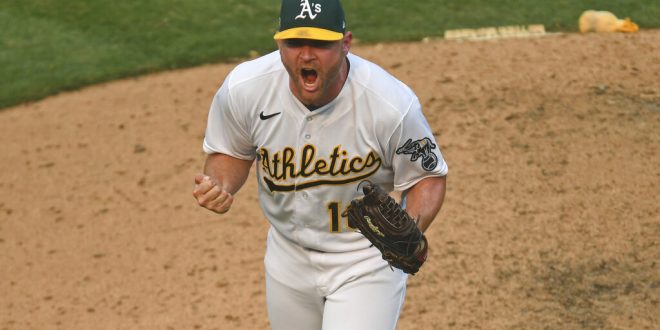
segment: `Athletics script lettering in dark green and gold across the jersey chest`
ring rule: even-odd
[[[305,145],[296,157],[296,150],[286,147],[271,153],[266,148],[259,150],[264,180],[270,191],[294,191],[319,185],[338,185],[360,181],[376,173],[382,163],[378,154],[370,151],[365,157],[349,157],[348,152],[337,145],[327,157],[317,157],[316,147]],[[296,178],[309,181],[283,184]]]

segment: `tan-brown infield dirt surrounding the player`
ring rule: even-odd
[[[399,329],[660,327],[660,31],[353,52],[450,169]],[[227,215],[191,195],[234,65],[0,112],[0,329],[267,328],[254,173]]]

